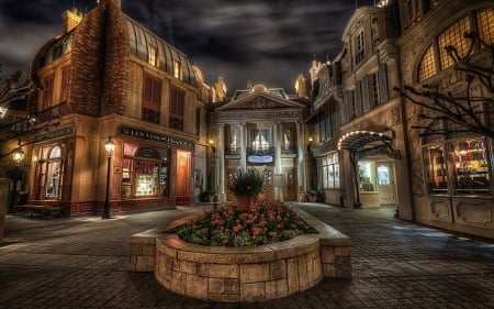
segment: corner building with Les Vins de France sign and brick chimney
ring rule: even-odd
[[[111,211],[192,203],[202,183],[194,176],[206,174],[212,100],[200,69],[125,15],[119,0],[63,16],[64,33],[33,62],[43,91],[31,97],[30,112],[59,125],[25,147],[27,202],[69,216],[99,212],[106,191]]]

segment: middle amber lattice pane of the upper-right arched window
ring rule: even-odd
[[[471,31],[469,16],[464,16],[453,24],[451,24],[438,37],[439,43],[439,59],[441,69],[446,69],[453,64],[453,59],[446,52],[446,46],[451,45],[457,48],[460,57],[467,55],[470,46],[470,41],[464,37],[464,33]]]

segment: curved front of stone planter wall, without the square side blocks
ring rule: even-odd
[[[203,246],[176,234],[156,239],[155,276],[186,296],[226,302],[277,299],[323,278],[319,236],[259,246]]]

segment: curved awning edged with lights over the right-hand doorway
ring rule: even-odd
[[[357,153],[364,147],[373,147],[385,145],[390,152],[393,150],[393,137],[390,131],[372,132],[372,131],[352,131],[346,133],[338,140],[338,150],[348,150]]]

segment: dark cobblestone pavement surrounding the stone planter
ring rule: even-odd
[[[0,308],[494,308],[494,241],[401,221],[392,208],[297,207],[351,238],[352,279],[325,278],[259,304],[197,300],[166,290],[153,274],[126,271],[130,235],[194,208],[111,220],[7,216]]]

